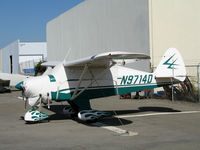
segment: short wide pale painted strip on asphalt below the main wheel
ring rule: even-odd
[[[135,136],[135,135],[138,135],[137,132],[127,131],[127,130],[120,129],[120,128],[117,128],[117,127],[114,127],[114,126],[110,126],[110,125],[107,125],[107,124],[104,124],[104,123],[101,123],[101,122],[95,122],[95,123],[92,123],[92,125],[97,126],[97,127],[101,127],[103,129],[107,129],[109,131],[113,131],[113,132],[117,133],[117,135],[120,135],[120,136]]]

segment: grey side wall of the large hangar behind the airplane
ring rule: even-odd
[[[85,0],[47,23],[48,61],[109,51],[150,55],[148,0]],[[69,51],[69,52],[68,52]],[[134,63],[149,71],[149,61]]]

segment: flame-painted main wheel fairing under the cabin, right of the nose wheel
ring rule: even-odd
[[[78,113],[78,118],[82,121],[96,121],[107,116],[110,116],[110,113],[98,110],[82,110]]]

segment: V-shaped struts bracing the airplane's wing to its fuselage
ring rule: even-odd
[[[96,79],[98,79],[98,78],[100,78],[101,76],[103,76],[104,73],[106,73],[106,71],[109,70],[109,69],[110,69],[112,66],[114,66],[114,65],[115,65],[115,62],[112,61],[112,63],[111,63],[105,70],[103,70],[103,71],[96,77]],[[77,85],[77,87],[76,87],[76,90],[75,90],[74,94],[72,95],[72,99],[71,99],[71,100],[74,100],[75,98],[77,98],[80,94],[82,94],[85,90],[87,90],[87,88],[88,88],[89,86],[91,86],[94,82],[96,82],[95,79],[91,80],[91,82],[90,82],[87,86],[85,86],[80,92],[78,92],[78,89],[79,89],[79,87],[80,87],[80,84],[81,84],[81,82],[82,82],[82,80],[83,80],[83,76],[84,76],[84,74],[85,74],[85,72],[86,72],[86,68],[88,68],[88,67],[86,67],[86,66],[84,67],[84,70],[83,70],[83,72],[82,72],[82,74],[81,74],[81,76],[80,76],[80,79],[79,79],[79,83],[78,83],[78,85]]]

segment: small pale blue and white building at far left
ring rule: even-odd
[[[20,42],[2,48],[2,72],[34,74],[34,66],[47,56],[46,42]]]

